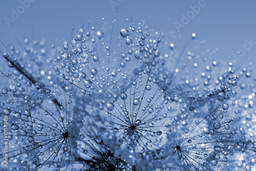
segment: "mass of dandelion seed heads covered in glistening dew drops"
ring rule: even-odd
[[[215,60],[196,33],[179,45],[120,25],[82,24],[49,49],[3,43],[1,169],[255,170],[252,64]]]

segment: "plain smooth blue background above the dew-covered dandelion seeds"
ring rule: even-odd
[[[88,27],[91,21],[92,26],[110,32],[115,17],[120,29],[129,27],[126,18],[132,16],[135,24],[144,21],[160,33],[171,32],[183,45],[196,33],[198,39],[206,40],[205,49],[219,49],[216,58],[246,67],[255,61],[255,7],[256,1],[231,0],[1,1],[0,39],[20,47],[24,38],[44,37],[50,48],[60,38],[71,37],[71,28],[79,29],[82,23]],[[107,25],[99,22],[102,18]],[[173,41],[168,34],[166,39]]]

